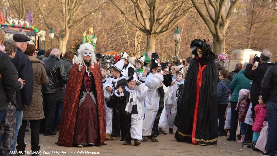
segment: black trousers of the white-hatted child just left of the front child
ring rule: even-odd
[[[120,121],[122,119],[120,105],[113,109],[113,130],[111,136],[120,137]]]

